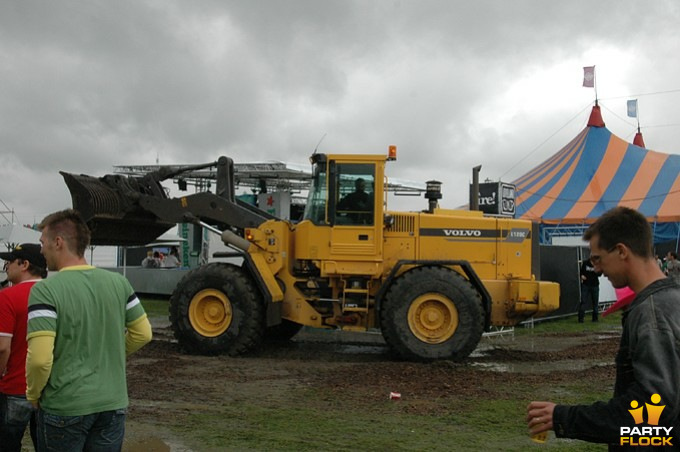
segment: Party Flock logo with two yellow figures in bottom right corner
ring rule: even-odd
[[[671,431],[673,427],[659,426],[659,418],[666,405],[661,405],[661,396],[652,394],[652,403],[640,406],[637,400],[630,402],[628,410],[635,421],[635,427],[621,427],[621,446],[672,446]],[[647,408],[647,425],[644,423],[644,411]]]

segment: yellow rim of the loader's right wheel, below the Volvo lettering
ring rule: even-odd
[[[411,332],[428,344],[441,344],[451,339],[458,328],[458,310],[453,301],[437,293],[416,298],[408,310]]]

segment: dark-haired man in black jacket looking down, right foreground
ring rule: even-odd
[[[629,286],[637,294],[623,313],[614,396],[591,405],[531,402],[529,430],[608,443],[610,450],[678,450],[680,285],[659,269],[649,224],[635,210],[608,211],[583,237],[595,270],[615,288]]]

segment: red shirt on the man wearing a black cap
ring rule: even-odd
[[[12,338],[7,369],[0,378],[0,392],[3,394],[26,394],[28,294],[37,281],[24,281],[0,290],[0,336]]]

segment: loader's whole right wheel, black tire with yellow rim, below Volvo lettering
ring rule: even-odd
[[[482,299],[453,270],[418,267],[401,275],[380,308],[387,344],[417,361],[465,359],[484,332]]]

